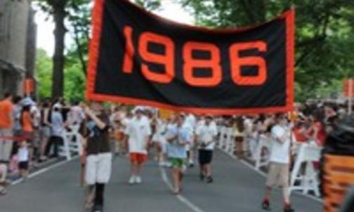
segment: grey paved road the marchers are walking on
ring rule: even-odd
[[[142,185],[128,185],[129,163],[114,160],[112,180],[107,186],[105,211],[123,212],[260,212],[265,178],[236,159],[217,152],[214,163],[215,183],[199,182],[197,168],[185,178],[182,196],[171,194],[154,161],[145,167]],[[280,199],[280,190],[272,199]],[[299,194],[292,196],[296,211],[320,212],[322,205]],[[25,183],[13,185],[6,197],[0,197],[1,212],[77,212],[84,211],[84,189],[79,187],[79,161],[41,173]],[[280,212],[282,205],[273,205]]]

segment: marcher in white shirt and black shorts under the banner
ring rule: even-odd
[[[211,116],[206,116],[204,124],[196,130],[197,143],[199,145],[200,180],[206,178],[207,183],[213,183],[211,177],[211,161],[215,147],[215,137],[218,135],[216,124],[213,124]]]

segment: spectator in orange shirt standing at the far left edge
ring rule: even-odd
[[[8,163],[13,141],[13,103],[11,93],[5,93],[0,101],[0,162]]]

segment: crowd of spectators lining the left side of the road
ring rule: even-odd
[[[0,101],[0,194],[6,194],[6,177],[24,180],[29,171],[59,157],[63,131],[85,118],[78,103],[67,105],[59,98],[35,102],[5,93]]]

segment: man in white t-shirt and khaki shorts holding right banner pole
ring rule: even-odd
[[[283,190],[284,212],[293,212],[289,195],[289,163],[291,131],[287,126],[287,114],[275,116],[276,125],[271,131],[272,147],[270,151],[270,166],[262,208],[270,210],[270,192],[273,187],[280,186]]]

